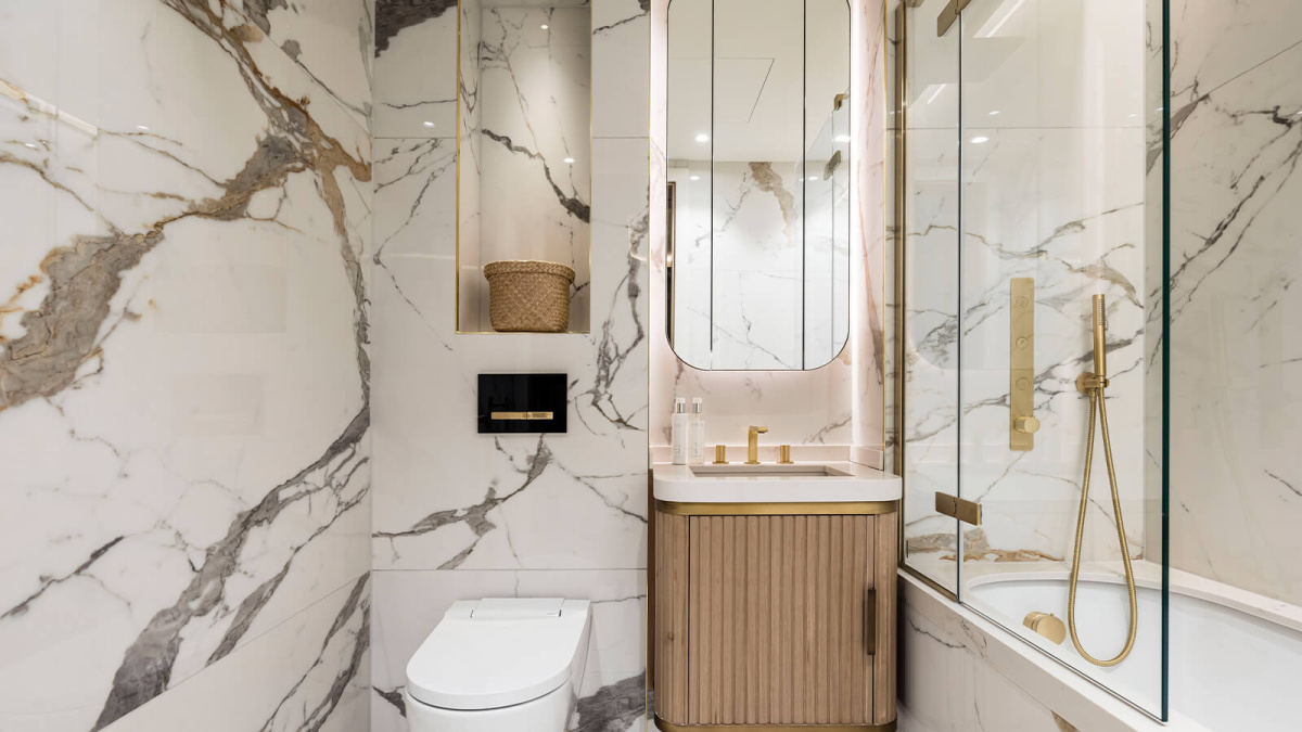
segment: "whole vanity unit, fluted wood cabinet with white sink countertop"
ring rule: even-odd
[[[894,729],[900,479],[656,465],[656,724]]]

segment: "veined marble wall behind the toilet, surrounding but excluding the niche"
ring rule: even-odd
[[[376,732],[405,729],[406,662],[448,606],[503,595],[592,599],[592,655],[573,728],[643,725],[648,13],[638,0],[589,7],[591,328],[562,335],[457,332],[458,130],[436,113],[439,100],[450,99],[456,116],[458,83],[444,70],[457,66],[457,5],[415,0],[378,9],[376,26],[397,30],[376,43],[375,60]],[[462,22],[499,10],[464,3]],[[461,53],[474,57],[466,38],[464,27]],[[487,100],[478,100],[488,74],[461,68],[465,173],[477,151],[499,143],[473,134],[477,111],[487,126]],[[379,125],[381,111],[422,102],[430,102],[422,104],[426,119],[400,124],[395,115],[395,126]],[[478,148],[475,138],[483,138]],[[480,373],[568,374],[568,434],[477,434]]]

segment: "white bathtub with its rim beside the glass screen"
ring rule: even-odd
[[[1052,612],[1066,621],[1065,568],[1052,572],[995,569],[971,577],[979,573],[969,573],[963,584],[963,598],[970,607],[940,595],[932,598],[939,602],[918,603],[918,593],[931,593],[921,585],[911,591],[906,589],[906,602],[927,607],[934,616],[945,612],[956,616],[935,620],[941,628],[956,628],[957,640],[973,646],[982,660],[995,666],[1046,707],[1061,710],[1061,715],[1081,729],[1302,729],[1297,711],[1302,694],[1302,610],[1297,607],[1172,570],[1169,723],[1163,725],[1134,709],[1125,709],[1124,703],[1118,706],[1124,699],[1152,712],[1161,709],[1159,567],[1141,563],[1137,568],[1141,578],[1137,582],[1139,628],[1135,645],[1126,660],[1111,668],[1099,668],[1082,659],[1070,637],[1056,645],[1021,624],[1032,611]],[[1077,624],[1086,650],[1099,658],[1115,655],[1125,642],[1128,615],[1125,584],[1120,577],[1108,572],[1082,573]],[[990,623],[991,619],[1004,628]],[[974,633],[976,630],[979,633]],[[1070,669],[1029,646],[1046,650]],[[1100,696],[1101,689],[1081,675],[1094,679],[1115,697]],[[1036,690],[1044,692],[1038,694]]]

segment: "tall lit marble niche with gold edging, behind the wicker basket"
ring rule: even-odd
[[[581,0],[458,3],[457,330],[493,332],[483,267],[574,270],[568,332],[589,332],[592,14]]]

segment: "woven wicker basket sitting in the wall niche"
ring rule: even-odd
[[[569,330],[574,270],[556,262],[505,259],[484,264],[484,276],[492,330],[531,333]]]

